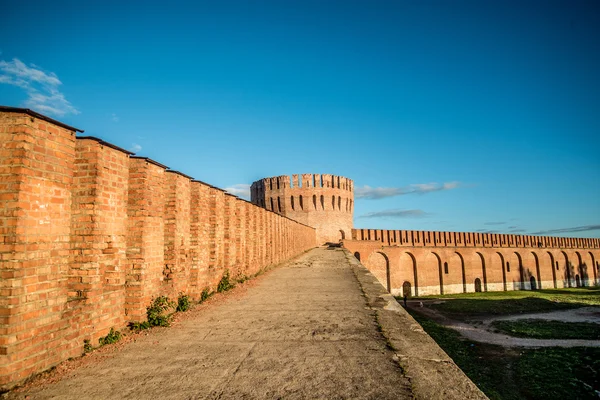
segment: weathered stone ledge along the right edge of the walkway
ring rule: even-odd
[[[416,399],[487,399],[360,261],[344,250]]]

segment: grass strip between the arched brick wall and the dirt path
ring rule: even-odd
[[[440,312],[454,317],[477,317],[481,315],[546,312],[600,305],[600,289],[594,287],[523,290],[421,297],[421,299],[432,298],[447,300],[443,303],[431,305]]]

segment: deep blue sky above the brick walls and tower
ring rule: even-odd
[[[597,1],[10,2],[0,52],[0,104],[235,193],[331,173],[359,228],[600,237]]]

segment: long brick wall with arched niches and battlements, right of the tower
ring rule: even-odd
[[[394,295],[600,285],[600,239],[353,229],[344,247]]]

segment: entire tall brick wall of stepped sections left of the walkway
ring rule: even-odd
[[[0,386],[316,245],[315,229],[29,110],[0,108]]]

